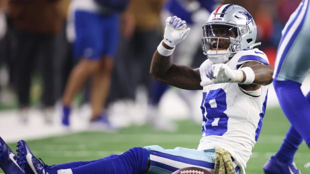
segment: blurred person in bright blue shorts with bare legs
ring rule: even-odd
[[[73,40],[73,56],[79,61],[70,73],[62,97],[64,126],[69,126],[71,102],[87,78],[91,80],[90,128],[105,129],[109,126],[103,106],[110,89],[113,58],[119,37],[120,11],[99,2],[72,0],[70,3],[68,33],[71,35],[68,37]]]

